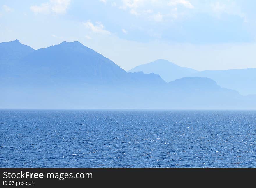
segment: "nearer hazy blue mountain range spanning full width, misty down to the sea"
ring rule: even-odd
[[[171,82],[154,73],[127,73],[79,42],[64,41],[34,50],[15,40],[0,43],[0,50],[0,108],[255,109],[256,106],[254,95],[242,96],[210,78],[187,77],[198,74],[196,70],[171,64],[170,67],[178,67],[183,77]],[[165,60],[160,62],[168,64]]]

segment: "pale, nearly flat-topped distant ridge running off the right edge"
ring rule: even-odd
[[[191,76],[211,78],[220,86],[237,90],[241,95],[256,94],[256,68],[205,70]]]

